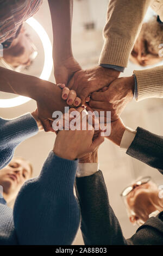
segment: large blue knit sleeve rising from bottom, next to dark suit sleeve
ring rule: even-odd
[[[78,160],[51,151],[40,176],[23,185],[14,206],[20,245],[71,245],[80,222],[73,193],[77,166]]]

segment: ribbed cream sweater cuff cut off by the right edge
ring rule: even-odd
[[[134,70],[137,80],[136,101],[163,97],[163,66],[152,69]]]

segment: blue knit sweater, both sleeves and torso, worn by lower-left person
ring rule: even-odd
[[[0,169],[17,145],[37,131],[31,114],[0,118]],[[80,222],[73,193],[77,166],[78,160],[61,159],[51,151],[40,175],[22,186],[13,211],[1,200],[0,245],[71,245]]]

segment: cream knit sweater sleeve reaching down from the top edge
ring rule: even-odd
[[[110,0],[99,64],[126,67],[151,0]]]

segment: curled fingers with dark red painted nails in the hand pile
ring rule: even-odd
[[[77,97],[76,92],[74,90],[68,89],[68,87],[66,87],[64,83],[59,83],[57,84],[57,86],[62,89],[61,97],[63,100],[66,100],[67,105],[73,105],[74,107],[78,107],[82,103],[82,100]]]

